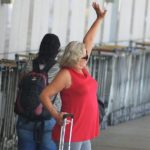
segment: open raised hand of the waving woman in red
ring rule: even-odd
[[[98,19],[103,19],[105,17],[105,14],[106,14],[106,10],[103,10],[100,5],[96,2],[93,2],[92,4],[95,12],[96,12],[96,15],[97,15],[97,18]]]

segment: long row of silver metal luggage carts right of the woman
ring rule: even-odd
[[[104,126],[150,113],[150,47],[105,46],[90,58],[98,97],[106,107]]]

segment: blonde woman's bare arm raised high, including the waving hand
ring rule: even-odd
[[[90,29],[88,30],[88,32],[86,33],[84,39],[83,39],[83,43],[85,44],[85,48],[88,51],[88,55],[90,55],[92,48],[93,48],[93,42],[96,36],[96,32],[99,28],[100,22],[101,20],[104,18],[105,14],[106,14],[106,10],[102,10],[101,7],[99,6],[99,4],[97,4],[96,2],[93,2],[93,8],[96,12],[97,18],[94,21],[94,23],[92,24],[92,26],[90,27]]]

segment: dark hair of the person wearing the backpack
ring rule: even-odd
[[[60,48],[60,41],[57,35],[47,33],[43,37],[38,56],[33,60],[33,70],[39,70],[39,64],[53,63]]]

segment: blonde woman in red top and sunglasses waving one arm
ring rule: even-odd
[[[93,47],[93,41],[106,11],[93,2],[97,18],[85,35],[83,42],[72,41],[59,59],[60,71],[43,90],[41,101],[57,124],[53,128],[53,139],[59,143],[60,128],[64,113],[74,114],[71,150],[91,150],[92,138],[99,134],[99,114],[97,104],[97,82],[86,69]],[[60,92],[61,112],[52,105],[51,97]],[[68,128],[68,127],[67,127]],[[66,129],[65,149],[68,146],[69,130]]]

